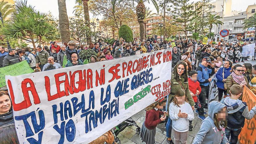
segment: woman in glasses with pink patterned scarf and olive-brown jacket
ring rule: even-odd
[[[235,65],[230,70],[231,74],[226,79],[226,85],[227,85],[227,94],[231,95],[229,90],[230,87],[234,84],[238,84],[240,86],[248,85],[248,80],[246,76],[243,75],[243,66],[242,65]]]

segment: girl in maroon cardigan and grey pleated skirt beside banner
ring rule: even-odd
[[[161,102],[163,99],[160,99]],[[145,122],[141,128],[141,140],[146,144],[154,144],[155,142],[155,135],[156,135],[156,127],[157,125],[166,119],[166,115],[168,114],[167,111],[159,111],[160,105],[159,101],[154,102],[150,106],[146,107],[146,118]],[[159,118],[160,115],[163,115]]]

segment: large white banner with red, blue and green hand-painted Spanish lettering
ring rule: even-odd
[[[171,49],[6,76],[22,144],[90,143],[170,93]]]

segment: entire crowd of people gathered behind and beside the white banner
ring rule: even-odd
[[[173,42],[175,43],[174,47]],[[243,45],[247,45],[247,43],[244,42]],[[79,47],[74,41],[60,46],[56,42],[52,42],[49,48],[38,46],[36,52],[31,52],[29,48],[17,49],[17,51],[8,49],[6,52],[5,48],[0,46],[0,55],[6,55],[3,59],[3,67],[27,61],[32,69],[40,67],[42,71],[46,71],[83,65],[84,62],[80,60],[79,52],[84,49],[95,51],[97,55],[92,55],[89,60],[89,63],[95,63],[172,48],[173,71],[170,94],[145,109],[146,116],[141,129],[141,140],[147,144],[154,144],[156,127],[160,122],[165,121],[166,143],[186,143],[188,131],[193,131],[192,120],[195,118],[195,112],[198,114],[197,117],[202,120],[202,125],[193,144],[236,144],[245,119],[250,120],[256,114],[256,105],[249,110],[246,103],[241,100],[244,86],[256,94],[256,77],[254,77],[256,65],[236,64],[240,61],[248,61],[248,57],[241,57],[243,45],[240,43],[232,45],[225,41],[219,42],[217,45],[202,45],[201,41],[192,39],[161,42],[152,36],[152,38],[149,37],[140,42],[136,40],[125,42],[120,38],[115,40],[113,45],[102,42],[101,39],[94,44],[90,42],[86,46]],[[226,47],[228,49],[226,55],[221,57],[221,53]],[[65,56],[67,63],[63,63]],[[255,56],[252,60],[255,60]],[[217,78],[218,99],[207,105],[209,84],[212,80],[211,76],[214,74]],[[160,111],[160,105],[163,103],[167,103],[167,111]],[[208,109],[207,117],[205,117],[207,112],[204,109]],[[14,129],[13,123],[9,94],[6,91],[1,91],[0,131]],[[4,137],[4,134],[0,135],[2,135],[0,138]],[[113,136],[110,137],[113,139]],[[9,138],[9,140],[15,141],[15,138]],[[109,143],[112,144],[113,141]]]

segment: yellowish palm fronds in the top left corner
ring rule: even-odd
[[[8,15],[14,11],[13,6],[8,4],[8,2],[0,1],[0,13],[2,15],[3,21],[8,21]],[[0,21],[1,24],[1,21]]]

